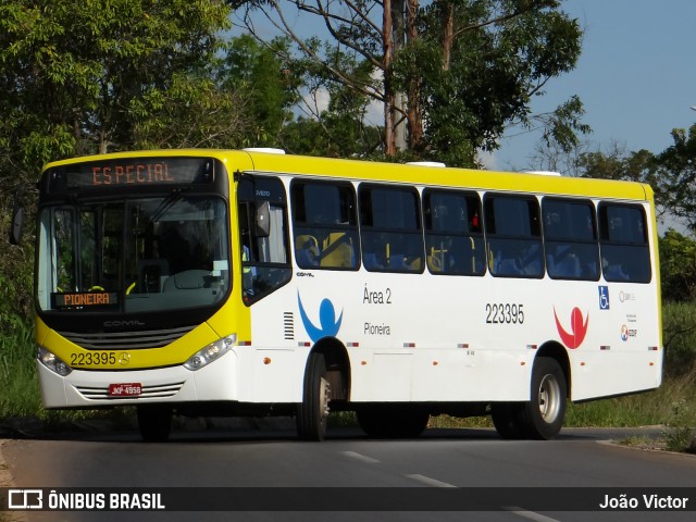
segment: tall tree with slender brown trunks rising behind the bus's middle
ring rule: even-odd
[[[408,149],[471,165],[475,151],[496,148],[512,123],[540,120],[545,136],[568,147],[588,130],[576,97],[554,114],[530,113],[532,97],[580,55],[582,32],[557,0],[229,1],[249,10],[244,20],[251,30],[249,13],[262,12],[323,74],[383,103],[387,157]],[[328,35],[323,45],[296,33],[293,10],[321,24]]]

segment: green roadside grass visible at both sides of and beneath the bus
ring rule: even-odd
[[[662,426],[661,444],[671,450],[693,448],[696,435],[696,303],[664,303],[662,308],[664,377],[660,388],[637,395],[569,405],[566,426]],[[41,407],[36,373],[34,332],[15,322],[0,332],[0,423],[3,420],[38,419],[42,425],[61,427],[83,421],[108,420],[115,425],[129,411],[48,411]],[[356,425],[350,413],[332,414],[332,425]],[[487,417],[457,419],[433,417],[428,427],[490,427]],[[631,444],[626,440],[626,444]],[[633,444],[637,444],[633,442]]]

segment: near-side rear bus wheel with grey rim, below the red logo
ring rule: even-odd
[[[556,437],[566,419],[568,384],[556,359],[539,357],[532,370],[530,401],[522,407],[526,436],[540,440]]]

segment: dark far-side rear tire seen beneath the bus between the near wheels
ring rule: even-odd
[[[402,405],[365,406],[356,411],[358,424],[374,438],[414,438],[427,427],[426,410]]]

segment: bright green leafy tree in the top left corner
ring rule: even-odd
[[[207,0],[4,1],[0,169],[35,175],[49,160],[152,144],[184,108],[234,107],[207,74],[228,15]],[[158,139],[204,141],[183,128]]]

